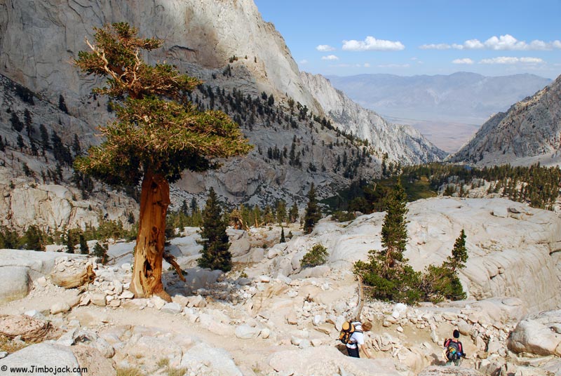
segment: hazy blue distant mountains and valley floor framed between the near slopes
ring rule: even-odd
[[[448,76],[360,74],[327,76],[359,105],[395,123],[410,124],[436,146],[457,151],[489,116],[551,83],[534,74],[487,77],[457,72]]]

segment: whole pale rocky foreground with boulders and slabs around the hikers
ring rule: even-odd
[[[416,307],[365,302],[374,359],[353,360],[335,340],[359,305],[351,262],[379,248],[381,213],[325,219],[309,235],[288,224],[288,243],[278,243],[279,227],[231,229],[236,267],[226,275],[194,267],[201,246],[187,228],[169,247],[187,281],[164,274],[167,304],[131,299],[133,243],[111,245],[105,266],[81,255],[0,250],[0,276],[9,281],[0,288],[0,333],[20,335],[10,342],[16,349],[41,342],[9,350],[0,365],[58,359],[53,365],[88,366],[93,375],[559,375],[560,281],[550,275],[561,266],[559,217],[503,199],[430,199],[409,209],[407,257],[416,269],[442,262],[466,229],[461,279],[470,297]],[[315,243],[329,260],[302,269]],[[88,264],[92,283],[57,285]],[[461,368],[443,368],[442,342],[454,328],[468,356]]]

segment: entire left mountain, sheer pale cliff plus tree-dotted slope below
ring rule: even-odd
[[[41,220],[49,228],[83,227],[88,221],[96,223],[99,215],[117,215],[125,222],[126,213],[131,213],[128,206],[113,213],[102,208],[102,201],[78,203],[77,183],[71,182],[71,163],[78,154],[72,146],[75,137],[84,152],[100,142],[95,127],[107,123],[112,114],[105,98],[90,94],[100,82],[80,75],[69,62],[87,48],[83,37],[92,39],[93,27],[105,22],[127,20],[140,34],[164,39],[164,47],[154,51],[151,61],[166,60],[203,79],[205,85],[192,99],[201,108],[222,109],[233,116],[255,145],[247,158],[225,161],[219,170],[187,173],[173,187],[174,204],[193,196],[201,203],[209,187],[233,204],[271,204],[278,198],[303,203],[311,182],[325,197],[356,177],[376,175],[384,153],[401,163],[434,161],[443,156],[409,128],[393,126],[348,98],[321,100],[332,106],[329,112],[337,119],[330,119],[311,94],[317,84],[309,87],[313,80],[299,75],[282,36],[273,25],[263,22],[251,0],[154,4],[45,1],[40,6],[24,0],[6,1],[0,9],[0,74],[4,75],[0,76],[0,129],[7,145],[0,151],[0,159],[6,167],[4,197],[10,198],[0,203],[0,210],[12,213],[4,224],[18,229]],[[334,95],[325,80],[316,77],[315,81],[321,82],[319,95]],[[262,93],[266,99],[272,96],[273,102],[264,100]],[[349,137],[351,133],[368,142]],[[41,147],[52,143],[50,137],[55,134],[62,154],[56,148]],[[58,179],[53,175],[57,170]],[[10,181],[24,188],[23,196]],[[62,205],[72,210],[60,214],[55,206],[43,208],[51,201],[35,196],[44,196],[41,192],[52,184],[62,185],[60,192],[72,192],[65,194],[70,200],[65,199]],[[30,191],[37,187],[41,192]],[[90,190],[100,197],[111,191],[102,186]],[[22,202],[28,203],[28,210],[15,206]],[[76,208],[88,210],[76,216],[71,214]]]

